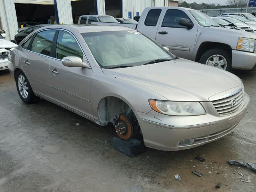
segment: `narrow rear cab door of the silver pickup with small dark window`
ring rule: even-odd
[[[150,9],[146,16],[140,18],[138,30],[155,40],[162,12],[161,8]]]

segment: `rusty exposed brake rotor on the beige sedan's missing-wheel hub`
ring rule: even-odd
[[[114,127],[118,136],[123,140],[128,140],[132,138],[132,123],[126,116],[120,115],[119,118],[116,120]]]

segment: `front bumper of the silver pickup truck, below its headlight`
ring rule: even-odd
[[[256,64],[256,53],[232,50],[232,68],[250,70]]]

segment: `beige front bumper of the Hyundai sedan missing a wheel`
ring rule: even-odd
[[[230,133],[246,113],[250,97],[245,93],[244,105],[234,114],[220,116],[215,108],[200,116],[167,116],[155,111],[148,114],[135,112],[138,117],[144,143],[147,147],[176,151],[194,148],[222,138]],[[211,102],[201,102],[205,108]],[[216,111],[216,110],[215,110]],[[180,141],[195,139],[192,144],[179,146]]]

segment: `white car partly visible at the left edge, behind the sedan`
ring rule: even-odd
[[[8,69],[8,54],[10,50],[16,48],[18,45],[8,40],[4,40],[0,36],[0,70]]]

